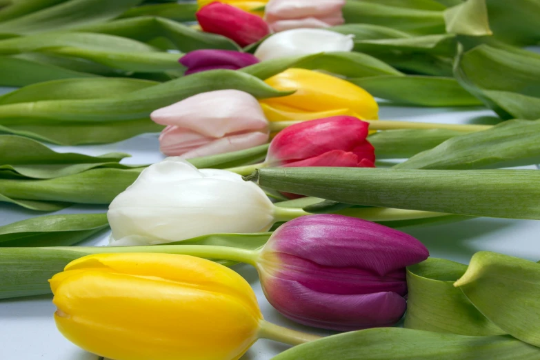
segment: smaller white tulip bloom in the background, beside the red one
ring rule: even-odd
[[[292,29],[273,34],[255,51],[261,61],[320,52],[346,52],[354,47],[352,35],[323,29]]]

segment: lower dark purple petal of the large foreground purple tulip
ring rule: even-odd
[[[407,308],[394,292],[340,295],[323,294],[297,281],[263,275],[268,301],[281,314],[308,326],[350,331],[397,323]]]

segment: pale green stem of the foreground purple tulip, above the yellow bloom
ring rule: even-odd
[[[159,245],[159,246],[96,246],[96,247],[65,247],[66,249],[88,254],[112,254],[119,252],[152,252],[161,254],[181,254],[194,257],[204,257],[207,259],[220,259],[249,263],[257,265],[257,250],[246,250],[232,248],[229,246],[210,245]],[[84,256],[81,255],[81,256]]]

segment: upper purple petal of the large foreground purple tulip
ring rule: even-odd
[[[320,266],[357,268],[383,276],[426,260],[414,237],[370,221],[337,214],[299,217],[272,234],[264,252],[289,254]]]

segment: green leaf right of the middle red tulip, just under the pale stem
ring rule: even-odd
[[[370,135],[368,140],[375,148],[377,159],[406,159],[459,135],[463,135],[463,132],[446,129],[400,129],[376,132]]]

